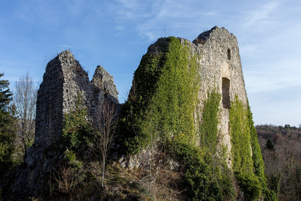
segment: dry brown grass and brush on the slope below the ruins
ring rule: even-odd
[[[149,179],[145,177],[147,167],[122,168],[111,161],[101,187],[100,162],[84,163],[76,169],[61,165],[52,175],[51,193],[46,200],[185,200],[180,184],[183,174],[163,164],[155,167]]]

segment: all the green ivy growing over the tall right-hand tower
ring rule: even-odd
[[[217,89],[208,93],[197,130],[194,114],[198,106],[199,58],[190,51],[175,37],[161,38],[149,47],[119,115],[119,132],[123,133],[119,143],[126,153],[136,154],[154,140],[165,141],[167,152],[187,164],[183,185],[190,200],[234,199],[234,179],[224,161],[223,147],[217,147],[221,146],[221,95]],[[275,194],[267,189],[251,111],[235,96],[229,112],[233,172],[242,191],[250,200],[261,195],[265,200],[275,200]]]

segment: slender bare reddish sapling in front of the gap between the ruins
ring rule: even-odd
[[[97,156],[101,159],[103,165],[101,186],[103,187],[104,169],[108,158],[109,149],[113,141],[113,137],[117,124],[117,112],[113,102],[104,101],[99,106],[98,115],[95,120],[95,144],[94,149]]]

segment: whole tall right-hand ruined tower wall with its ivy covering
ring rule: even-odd
[[[148,48],[119,116],[122,151],[164,142],[166,154],[186,164],[189,200],[235,200],[238,190],[248,200],[276,200],[263,173],[236,38],[214,27],[198,39],[161,38]]]

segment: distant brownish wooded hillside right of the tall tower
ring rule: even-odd
[[[301,124],[255,128],[269,187],[279,200],[301,200]]]

